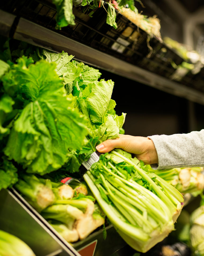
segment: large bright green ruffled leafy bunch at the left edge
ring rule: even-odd
[[[41,175],[57,170],[67,161],[68,149],[80,150],[87,134],[86,120],[74,108],[74,97],[66,95],[55,62],[34,64],[32,57],[22,56],[8,63],[0,62],[0,188],[17,181],[9,160]]]

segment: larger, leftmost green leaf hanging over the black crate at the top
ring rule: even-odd
[[[68,25],[75,25],[72,13],[72,0],[52,0],[57,8],[56,29],[61,29]]]

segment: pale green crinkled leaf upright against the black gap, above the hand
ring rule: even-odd
[[[114,82],[111,80],[94,81],[90,83],[83,91],[86,97],[88,109],[90,111],[90,119],[94,124],[103,124],[103,118],[107,111],[108,104],[111,99]],[[87,93],[90,91],[91,93]]]

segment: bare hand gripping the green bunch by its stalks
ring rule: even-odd
[[[144,162],[144,164],[157,164],[158,156],[154,143],[147,137],[131,136],[119,134],[117,139],[109,139],[98,146],[96,149],[101,153],[107,153],[114,148],[123,149]]]

